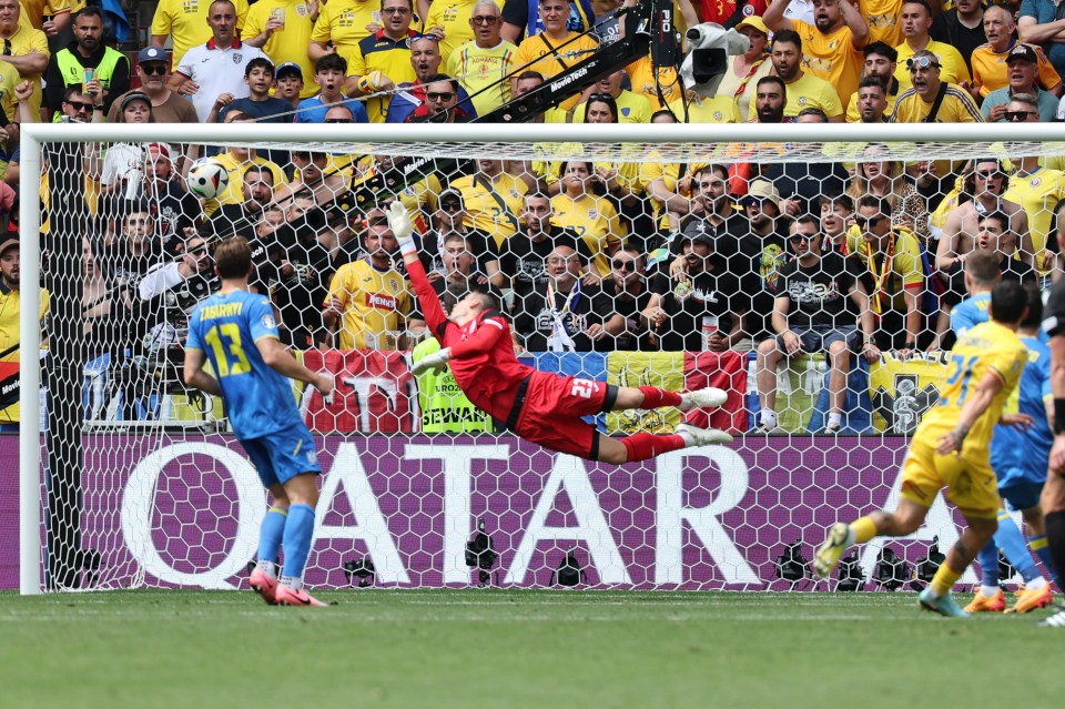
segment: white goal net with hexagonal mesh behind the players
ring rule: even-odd
[[[211,250],[233,235],[285,344],[337,382],[327,399],[293,387],[324,470],[308,585],[921,585],[960,530],[942,498],[828,581],[809,561],[830,524],[897,502],[962,264],[982,251],[1043,287],[1059,273],[1065,143],[1010,131],[26,125],[6,402],[22,426],[0,437],[12,476],[20,460],[21,570],[9,559],[0,585],[247,587],[266,494],[222,402],[182,378],[189,314],[219,287]],[[599,431],[686,421],[734,442],[589,463],[519,440],[446,373],[413,376],[436,344],[394,253],[395,199],[442,301],[498,291],[525,362],[729,393]]]

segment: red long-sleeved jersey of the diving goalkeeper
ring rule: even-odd
[[[499,311],[486,311],[459,327],[447,320],[420,262],[407,264],[407,275],[423,316],[443,347],[450,347],[448,365],[455,383],[474,406],[506,423],[521,383],[536,373],[514,354],[510,324]]]

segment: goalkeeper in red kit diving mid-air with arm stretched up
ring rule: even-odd
[[[680,424],[677,433],[668,435],[638,433],[611,438],[599,433],[581,416],[629,408],[714,407],[721,406],[728,395],[713,387],[686,394],[655,386],[618,387],[524,365],[514,354],[510,325],[499,312],[498,298],[470,293],[455,304],[448,317],[418,260],[410,215],[399,201],[388,210],[388,225],[396,235],[425,322],[442,346],[414,365],[415,374],[449,363],[455,382],[474,406],[526,440],[589,460],[621,465],[680,448],[732,442],[732,436],[722,431],[689,424]]]

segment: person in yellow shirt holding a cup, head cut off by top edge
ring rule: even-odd
[[[311,30],[318,17],[318,3],[302,0],[260,0],[247,11],[242,37],[252,47],[258,47],[274,64],[300,64],[304,77],[314,73],[307,57]],[[314,95],[314,87],[303,89],[302,99]]]

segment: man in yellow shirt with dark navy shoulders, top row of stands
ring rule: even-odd
[[[359,40],[347,61],[347,95],[376,94],[417,80],[410,61],[410,39],[417,36],[410,29],[413,16],[412,0],[382,0],[382,28]],[[371,123],[385,122],[388,103],[388,94],[367,100]]]

